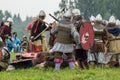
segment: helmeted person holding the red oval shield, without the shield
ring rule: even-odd
[[[73,14],[73,23],[76,27],[76,31],[79,33],[80,27],[82,26],[84,20],[82,19],[82,16],[80,15],[80,10],[79,9],[73,9],[72,11]],[[82,69],[89,69],[89,65],[87,62],[87,51],[84,50],[81,45],[76,45],[75,48],[75,58],[79,64],[79,66]]]

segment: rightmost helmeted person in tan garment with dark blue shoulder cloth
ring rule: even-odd
[[[106,60],[110,67],[119,62],[120,54],[120,28],[116,25],[116,19],[111,16],[107,27],[104,29],[103,40],[107,47]]]

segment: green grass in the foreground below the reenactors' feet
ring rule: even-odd
[[[19,69],[0,72],[0,80],[120,80],[120,69],[91,67],[81,70],[75,67],[72,71],[64,68],[59,72],[53,68]]]

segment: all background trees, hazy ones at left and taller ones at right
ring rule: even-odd
[[[78,8],[81,11],[81,15],[84,19],[88,20],[91,15],[96,16],[101,14],[104,19],[109,19],[111,15],[120,19],[120,0],[74,0],[74,2],[69,2],[71,0],[61,0],[59,3],[59,10],[55,11],[54,14],[57,16],[61,14],[61,10],[64,8]],[[32,17],[26,17],[25,21],[21,20],[20,14],[12,15],[11,12],[5,11],[3,13],[0,10],[0,20],[4,18],[6,21],[9,17],[13,19],[13,30],[18,33],[18,37],[22,37],[26,34],[25,26],[32,21]]]

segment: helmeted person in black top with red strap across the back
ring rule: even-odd
[[[43,10],[39,13],[39,18],[34,22],[34,25],[31,29],[31,38],[33,40],[32,45],[32,51],[33,52],[42,52],[43,49],[43,43],[44,42],[44,36],[40,35],[35,39],[36,36],[38,36],[44,29],[47,28],[45,22],[43,21],[46,17],[46,14]],[[46,44],[45,44],[46,45]]]

